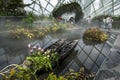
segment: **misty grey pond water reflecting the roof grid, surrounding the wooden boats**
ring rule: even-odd
[[[4,52],[0,54],[0,65],[2,65],[0,69],[13,63],[21,64],[25,57],[29,55],[29,50],[27,48],[28,44],[46,48],[59,39],[66,39],[71,41],[79,40],[79,42],[74,51],[59,65],[59,67],[54,69],[54,72],[58,75],[62,75],[68,72],[69,69],[79,71],[80,67],[85,67],[85,72],[96,73],[106,58],[106,55],[108,55],[111,47],[107,43],[86,45],[82,40],[83,32],[88,28],[86,26],[87,25],[80,27],[79,24],[77,24],[74,28],[59,33],[48,34],[41,40],[32,41],[10,41],[1,35],[0,40],[2,44],[0,44],[0,49]],[[18,49],[14,50],[16,46]]]

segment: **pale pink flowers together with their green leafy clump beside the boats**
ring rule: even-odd
[[[39,46],[28,44],[31,55],[26,58],[31,62],[31,66],[35,73],[37,71],[51,71],[54,67],[53,63],[57,63],[59,56],[54,50],[44,50]]]

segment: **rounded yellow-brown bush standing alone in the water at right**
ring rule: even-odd
[[[83,34],[83,41],[103,43],[107,41],[108,35],[99,28],[89,28]]]

